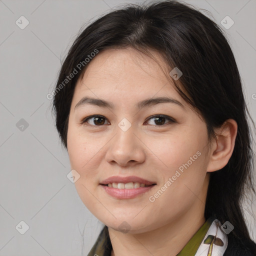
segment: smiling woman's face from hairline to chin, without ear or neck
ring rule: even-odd
[[[87,65],[75,86],[67,132],[71,168],[80,175],[75,187],[86,207],[108,227],[131,233],[203,214],[205,122],[159,64],[132,48],[99,52]],[[84,97],[95,100],[81,102]],[[155,100],[161,97],[170,100]]]

